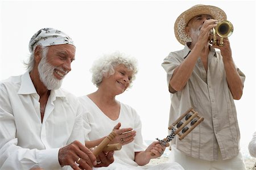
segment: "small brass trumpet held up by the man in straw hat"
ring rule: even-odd
[[[215,28],[212,28],[209,33],[209,42],[212,45],[217,45],[217,35],[221,37],[220,44],[218,46],[223,46],[223,38],[229,37],[234,31],[233,24],[228,20],[222,20],[217,24]]]

